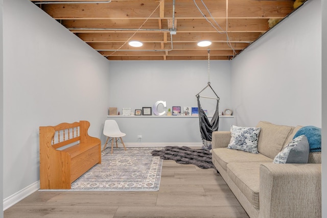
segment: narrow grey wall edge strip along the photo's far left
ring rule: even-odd
[[[3,158],[4,158],[4,140],[3,140],[3,132],[4,132],[4,126],[3,126],[3,118],[4,118],[4,90],[3,90],[3,4],[4,1],[0,0],[0,199],[4,199],[3,195]],[[0,218],[4,217],[3,213],[3,204],[0,204]]]

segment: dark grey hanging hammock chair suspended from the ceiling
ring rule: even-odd
[[[210,82],[208,82],[208,85],[204,89],[206,89],[207,87],[210,87],[213,90],[213,92],[216,94],[214,89],[211,87]],[[202,89],[202,91],[204,89]],[[212,133],[213,133],[213,131],[218,131],[218,127],[219,127],[219,100],[220,100],[220,98],[218,97],[217,94],[216,94],[217,98],[201,96],[200,93],[202,91],[200,91],[196,95],[196,98],[198,101],[199,126],[200,126],[201,138],[202,138],[202,149],[211,150],[212,149]],[[216,111],[215,111],[211,121],[208,119],[207,115],[205,114],[204,110],[201,107],[200,97],[217,100]]]

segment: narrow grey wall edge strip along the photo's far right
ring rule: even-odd
[[[321,1],[322,11],[322,144],[327,144],[327,1]],[[322,205],[327,205],[327,150],[322,148]],[[327,217],[327,208],[322,207],[322,217]]]

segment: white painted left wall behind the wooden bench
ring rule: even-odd
[[[39,180],[39,126],[100,137],[109,61],[27,0],[4,0],[4,198]]]

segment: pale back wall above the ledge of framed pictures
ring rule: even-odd
[[[156,101],[167,107],[197,107],[195,95],[207,85],[208,61],[110,61],[110,107],[142,109]],[[210,61],[211,86],[220,97],[220,111],[230,107],[230,62]],[[203,95],[215,96],[210,89]],[[203,103],[202,103],[203,102]],[[215,100],[201,99],[213,114]]]

